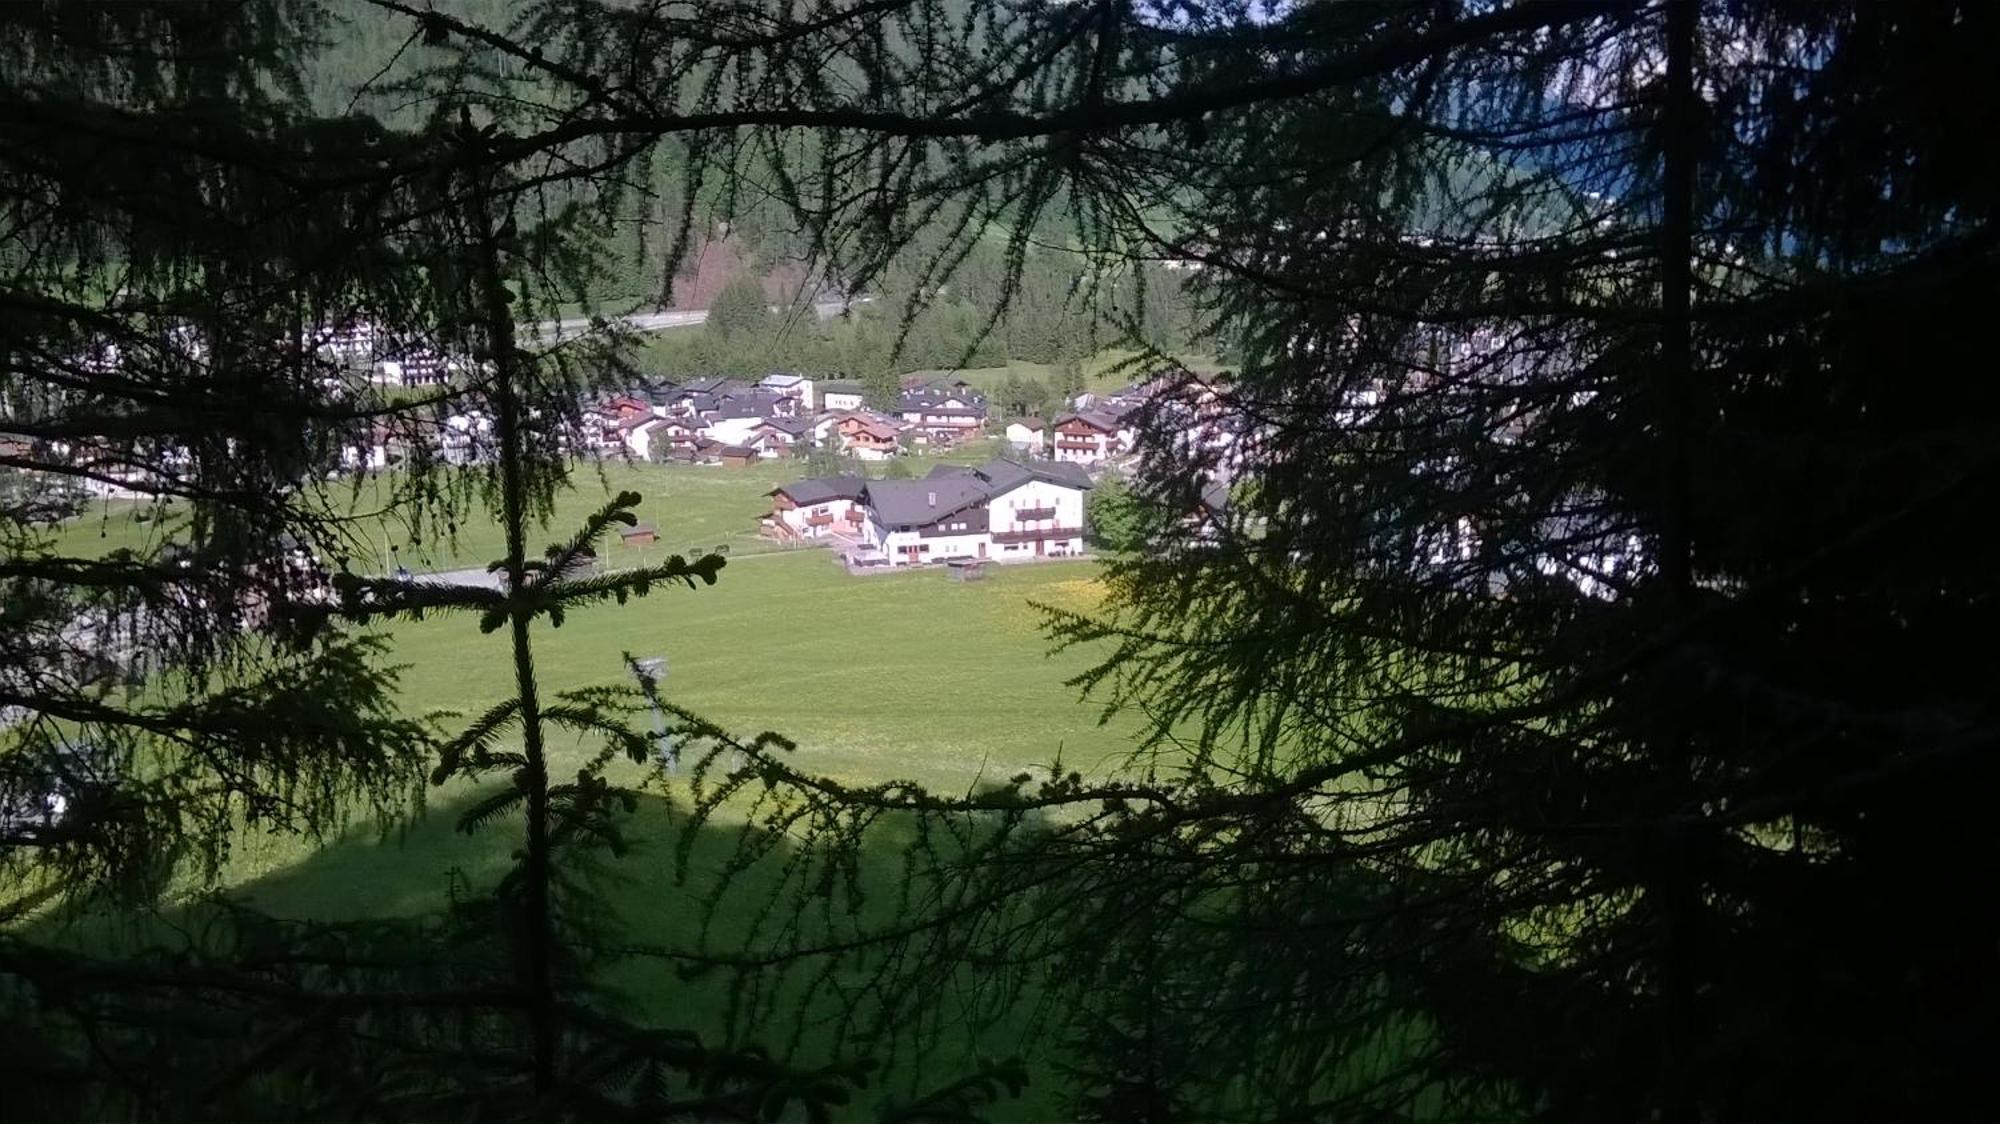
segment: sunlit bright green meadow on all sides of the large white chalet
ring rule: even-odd
[[[966,448],[958,460],[982,460]],[[880,470],[880,466],[870,466]],[[928,470],[916,464],[916,472]],[[992,568],[986,582],[960,584],[940,570],[848,576],[830,552],[786,548],[756,534],[766,492],[798,478],[796,462],[752,468],[590,464],[580,466],[548,526],[532,542],[562,538],[608,494],[640,492],[640,518],[660,530],[652,546],[604,548],[606,566],[660,562],[668,554],[728,548],[712,588],[662,588],[624,606],[578,612],[536,634],[536,662],[550,690],[624,682],[624,652],[666,656],[674,702],[726,728],[776,730],[800,744],[800,760],[840,780],[910,778],[946,790],[1012,776],[1058,752],[1092,766],[1130,744],[1130,724],[1098,726],[1098,708],[1064,680],[1086,654],[1048,654],[1032,604],[1096,604],[1094,562]],[[358,508],[384,484],[364,484]],[[170,534],[168,520],[138,522],[138,504],[108,502],[64,528],[58,548],[138,546]],[[376,566],[476,568],[502,554],[490,518],[466,518],[438,542],[406,528],[360,520],[354,538],[374,542]],[[390,552],[394,546],[394,554]],[[402,666],[410,712],[478,712],[510,690],[500,634],[472,618],[444,616],[384,626]],[[580,750],[578,750],[580,752]],[[244,848],[244,876],[292,860],[288,848]]]

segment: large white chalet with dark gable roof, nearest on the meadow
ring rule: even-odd
[[[890,566],[946,558],[1066,558],[1084,552],[1084,492],[1072,464],[992,460],[922,480],[870,480],[862,542]]]

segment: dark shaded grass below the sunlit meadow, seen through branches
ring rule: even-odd
[[[422,918],[444,910],[454,894],[470,896],[494,888],[514,862],[522,840],[518,816],[488,822],[466,834],[458,818],[476,792],[434,804],[386,836],[376,830],[352,830],[300,862],[234,886],[228,900],[258,914],[298,922],[356,922],[386,918]],[[692,950],[704,938],[704,894],[718,882],[740,846],[740,824],[712,824],[688,842],[688,880],[676,878],[676,846],[682,840],[686,816],[662,796],[646,796],[626,818],[632,848],[620,856],[604,856],[586,876],[610,908],[604,942],[630,950]],[[862,860],[862,886],[870,902],[894,898],[896,880],[904,870],[906,834],[894,824],[870,832]],[[782,872],[798,858],[796,848],[778,840],[754,864],[732,870],[728,892],[706,928],[706,950],[738,954],[754,926],[754,918],[772,906]],[[778,910],[790,904],[778,904]],[[872,920],[864,910],[862,920]],[[104,912],[70,916],[38,926],[34,940],[86,948],[98,954],[184,948],[198,940],[202,906],[184,906],[168,914],[108,916]],[[684,962],[660,954],[622,954],[598,974],[598,984],[638,1024],[692,1030],[704,1042],[758,1044],[800,1066],[820,1066],[836,1054],[854,1058],[852,1046],[836,1048],[832,1026],[842,1014],[838,998],[820,992],[806,1002],[796,976],[776,976],[770,986],[776,998],[758,1004],[752,1018],[732,1018],[730,972],[706,972],[688,978]],[[974,976],[968,976],[968,982]],[[842,980],[852,986],[852,976]],[[862,984],[866,986],[866,984]],[[858,994],[858,1002],[882,996]],[[956,1028],[924,1042],[922,1056],[912,1056],[904,1044],[894,1054],[872,1054],[882,1070],[868,1090],[856,1096],[852,1118],[874,1118],[874,1108],[890,1096],[910,1098],[966,1076],[982,1060],[1022,1056],[1032,1076],[1018,1100],[988,1110],[990,1120],[1052,1120],[1064,1116],[1066,1090],[1054,1068],[1024,1042],[1026,1010],[1018,1010],[974,1032]]]

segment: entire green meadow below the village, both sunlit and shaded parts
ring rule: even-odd
[[[988,454],[986,448],[962,450],[958,460]],[[926,468],[916,466],[918,472]],[[798,764],[808,770],[850,782],[908,778],[942,792],[1004,780],[1058,754],[1066,768],[1094,772],[1132,748],[1130,720],[1100,724],[1098,708],[1064,686],[1088,656],[1048,654],[1042,616],[1032,606],[1094,606],[1100,596],[1094,562],[994,568],[988,580],[974,584],[952,582],[938,570],[850,578],[824,550],[780,548],[756,538],[764,494],[798,474],[796,464],[582,468],[576,486],[558,500],[542,540],[562,536],[606,492],[636,490],[644,496],[640,518],[660,528],[662,542],[642,552],[612,546],[610,566],[722,544],[730,546],[730,564],[712,588],[662,588],[624,606],[576,612],[556,630],[540,628],[536,662],[544,688],[624,682],[622,652],[666,656],[664,690],[674,702],[742,734],[774,730],[788,736],[798,744]],[[378,486],[364,486],[362,500],[372,502],[370,488]],[[132,504],[106,504],[66,528],[64,546],[86,552],[160,534],[160,522],[132,516]],[[370,534],[394,542],[396,556],[412,568],[480,566],[502,550],[500,528],[486,520],[462,522],[456,538],[436,544],[412,544],[364,524],[360,538]],[[510,692],[504,634],[480,634],[474,618],[382,628],[402,666],[408,710],[478,712]],[[552,766],[558,774],[574,770],[590,750],[556,740]],[[636,772],[636,766],[626,768],[626,776]],[[428,816],[388,834],[356,824],[324,848],[286,836],[246,836],[234,850],[230,890],[264,912],[310,920],[436,910],[454,882],[484,886],[496,880],[520,842],[518,820],[500,820],[470,836],[456,832],[456,808],[468,796],[464,786],[436,792]],[[618,888],[616,912],[636,942],[674,944],[698,936],[690,890],[670,878],[678,838],[670,808],[680,798],[680,782],[672,782],[644,802],[634,820],[638,846],[608,870]],[[726,826],[698,840],[696,880],[718,868],[732,846]],[[900,868],[900,854],[888,846],[870,870]],[[760,900],[762,876],[756,870],[742,876],[744,908]],[[728,940],[736,924],[740,920],[726,912],[712,936]],[[668,962],[630,960],[606,982],[636,1012],[666,1026],[724,1030],[716,984],[690,984]],[[764,1026],[758,1036],[782,1044],[790,1030]],[[810,1034],[802,1048],[814,1054]],[[968,1066],[976,1052],[1020,1050],[1032,1050],[1032,1042],[1012,1026],[978,1042],[952,1040],[932,1072]],[[1002,1116],[1046,1120],[1056,1112],[1056,1094],[1052,1078],[1038,1080],[1028,1098]]]

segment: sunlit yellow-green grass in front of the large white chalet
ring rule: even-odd
[[[1050,658],[1030,606],[1090,606],[1094,578],[1092,562],[962,584],[938,570],[850,578],[824,550],[746,556],[712,588],[666,588],[538,632],[536,662],[562,690],[620,682],[620,652],[666,656],[674,702],[732,730],[782,732],[818,772],[962,790],[1058,750],[1102,758],[1120,740],[1062,686],[1084,660]],[[402,624],[394,642],[412,708],[480,710],[510,692],[504,636],[468,618]]]

